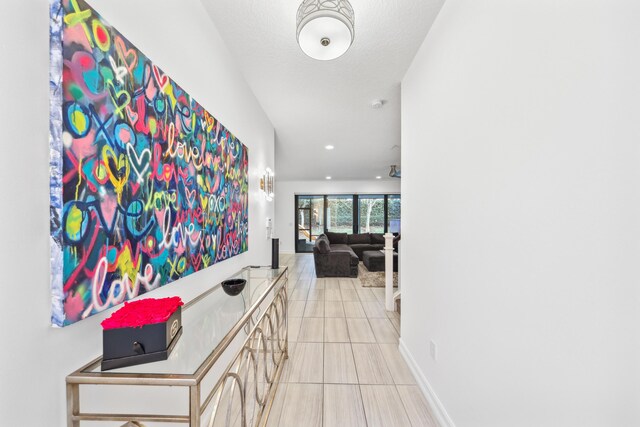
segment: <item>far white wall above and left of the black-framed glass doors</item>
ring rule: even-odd
[[[285,167],[285,166],[279,166]],[[294,201],[296,194],[391,194],[400,193],[400,180],[384,178],[368,181],[279,181],[276,176],[276,221],[274,237],[280,239],[280,252],[295,252]]]

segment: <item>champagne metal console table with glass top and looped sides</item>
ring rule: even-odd
[[[218,284],[190,301],[167,360],[101,372],[97,358],[67,376],[67,426],[263,426],[288,357],[287,277],[246,267],[241,294]]]

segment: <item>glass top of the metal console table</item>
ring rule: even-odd
[[[196,372],[204,360],[220,344],[227,333],[247,313],[269,286],[284,273],[279,269],[246,267],[228,279],[242,278],[247,281],[244,290],[237,296],[229,296],[221,284],[204,292],[193,302],[182,308],[182,336],[167,360],[111,369],[102,372],[98,364],[86,372],[130,373],[130,374],[185,374]],[[272,294],[284,286],[276,285]],[[269,301],[269,297],[266,301]],[[239,335],[246,336],[243,330]]]

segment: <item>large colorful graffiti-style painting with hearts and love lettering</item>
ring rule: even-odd
[[[249,160],[83,0],[50,13],[51,319],[65,326],[246,251]]]

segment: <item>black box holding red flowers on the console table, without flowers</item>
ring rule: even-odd
[[[166,360],[182,334],[182,307],[162,323],[102,331],[102,370]]]

